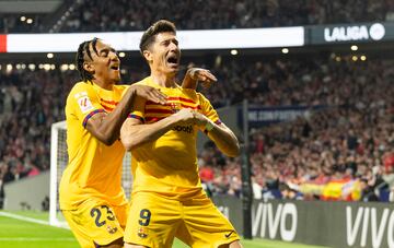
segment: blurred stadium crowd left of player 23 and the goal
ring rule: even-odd
[[[50,125],[65,118],[69,76],[44,70],[0,73],[0,199],[4,184],[49,169]]]

